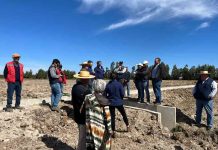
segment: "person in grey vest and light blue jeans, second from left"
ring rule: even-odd
[[[60,61],[58,59],[54,59],[48,69],[48,78],[51,87],[51,110],[57,112],[60,111],[58,108],[58,104],[61,99],[61,86],[59,79],[62,77],[61,74],[58,74],[59,65]]]

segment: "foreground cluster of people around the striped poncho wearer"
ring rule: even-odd
[[[74,119],[78,124],[78,150],[109,150],[111,138],[115,137],[115,109],[124,120],[126,131],[130,130],[129,121],[123,106],[124,87],[117,73],[104,80],[101,62],[92,70],[92,62],[81,64],[80,72],[74,77],[77,83],[72,88]]]

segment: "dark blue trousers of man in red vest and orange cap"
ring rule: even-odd
[[[16,93],[15,106],[20,106],[21,90],[22,90],[22,85],[19,81],[15,82],[15,83],[8,83],[7,106],[6,107],[11,107],[14,91]]]

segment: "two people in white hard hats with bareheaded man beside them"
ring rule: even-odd
[[[152,81],[153,91],[155,94],[155,104],[161,104],[161,83],[166,76],[166,69],[160,58],[155,58],[154,65],[151,68],[148,66],[148,61],[137,64],[137,69],[134,72],[134,83],[138,90],[138,103],[144,102],[146,93],[147,103],[151,103],[149,92],[149,80]]]

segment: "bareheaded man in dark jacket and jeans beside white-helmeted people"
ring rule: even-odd
[[[160,58],[155,58],[154,66],[151,69],[152,86],[156,97],[154,104],[160,105],[162,102],[161,84],[162,84],[162,79],[165,77],[166,77],[166,70],[164,64],[161,63]]]

